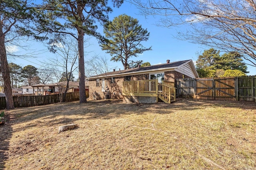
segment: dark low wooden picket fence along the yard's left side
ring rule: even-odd
[[[79,92],[71,92],[66,94],[66,102],[73,102],[79,100]],[[54,104],[60,102],[60,95],[46,95],[46,96],[13,96],[14,107],[30,107],[41,106],[47,104]],[[6,108],[5,97],[0,97],[0,109]]]

